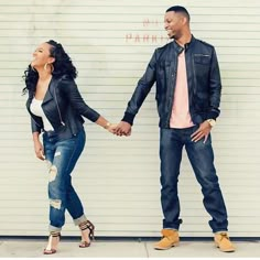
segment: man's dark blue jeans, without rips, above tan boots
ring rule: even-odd
[[[214,153],[210,134],[204,143],[204,139],[193,142],[191,134],[198,127],[186,129],[161,129],[160,158],[161,158],[161,204],[164,215],[163,228],[178,230],[180,201],[177,182],[182,150],[185,147],[187,156],[194,170],[196,180],[202,186],[204,206],[212,216],[209,226],[214,232],[227,230],[227,210],[223,194],[218,184],[218,177],[214,166]]]

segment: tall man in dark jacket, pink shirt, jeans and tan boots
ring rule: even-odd
[[[124,117],[115,130],[130,136],[133,119],[156,83],[160,116],[161,204],[164,215],[162,239],[154,249],[169,249],[180,241],[177,180],[185,147],[195,176],[202,186],[204,206],[212,216],[209,226],[221,251],[235,251],[227,235],[227,210],[214,166],[210,130],[219,116],[220,73],[214,46],[193,36],[189,14],[183,7],[166,10],[164,28],[173,41],[155,50],[128,102]]]

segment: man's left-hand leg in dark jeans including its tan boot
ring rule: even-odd
[[[183,143],[178,140],[178,130],[161,129],[161,204],[164,215],[163,238],[154,245],[155,249],[169,249],[178,243],[181,224],[177,182],[182,160]]]

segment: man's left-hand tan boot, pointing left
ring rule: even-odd
[[[178,231],[173,229],[162,229],[162,239],[154,245],[154,249],[165,250],[178,246]]]

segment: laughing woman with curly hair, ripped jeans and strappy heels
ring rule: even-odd
[[[50,238],[44,254],[55,253],[65,223],[65,209],[82,230],[80,248],[90,246],[94,225],[84,215],[82,202],[72,185],[72,171],[85,145],[84,119],[113,132],[115,126],[88,107],[74,82],[77,71],[62,44],[51,40],[33,53],[24,72],[29,94],[26,108],[35,154],[50,165]],[[40,134],[43,133],[43,144]]]

